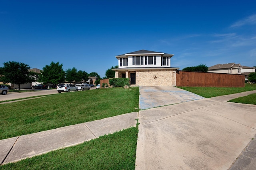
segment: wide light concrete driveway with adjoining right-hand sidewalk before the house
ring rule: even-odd
[[[178,97],[174,95],[180,91],[178,88],[151,88],[140,90],[142,97],[150,96],[149,102],[185,101],[185,96],[178,99],[183,92]],[[163,89],[167,91],[165,95],[169,98],[162,100],[162,95],[156,94],[158,88],[161,94]],[[174,91],[174,94],[169,94],[169,91]],[[139,111],[136,170],[255,169],[256,164],[252,162],[256,162],[256,145],[255,142],[253,145],[250,143],[256,138],[256,106],[227,102],[250,93],[200,100],[195,98],[190,102]],[[141,108],[145,108],[144,103],[146,100],[140,102]],[[248,151],[247,154],[243,154],[243,150]]]

